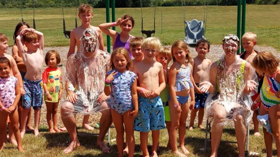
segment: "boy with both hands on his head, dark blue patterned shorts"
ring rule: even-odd
[[[23,43],[22,43],[23,41]],[[27,67],[24,78],[25,95],[22,96],[21,136],[25,135],[28,112],[34,109],[34,135],[39,134],[40,109],[43,103],[42,64],[44,62],[44,35],[33,28],[25,28],[16,38],[16,43]],[[24,46],[27,46],[27,50]]]

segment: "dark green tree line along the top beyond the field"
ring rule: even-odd
[[[111,0],[110,0],[111,1]],[[238,0],[115,0],[115,7],[237,5]],[[0,0],[2,8],[77,7],[87,3],[94,8],[104,8],[106,0]],[[247,0],[248,4],[279,4],[280,0]]]

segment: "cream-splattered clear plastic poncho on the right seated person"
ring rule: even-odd
[[[218,125],[224,125],[228,120],[234,120],[236,115],[242,115],[247,126],[252,118],[251,94],[246,94],[244,87],[248,80],[257,81],[257,76],[250,63],[239,56],[236,58],[236,61],[227,67],[223,57],[209,66],[200,78],[200,82],[208,81],[214,87],[204,108],[211,124],[215,114],[221,114],[221,111],[225,111],[225,118]]]

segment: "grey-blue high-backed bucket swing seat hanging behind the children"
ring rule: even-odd
[[[190,47],[196,47],[196,42],[201,39],[206,39],[204,37],[204,21],[197,21],[196,19],[190,21],[185,21],[187,24],[185,28],[184,42],[188,44]]]

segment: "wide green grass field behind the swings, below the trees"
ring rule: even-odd
[[[246,31],[253,31],[258,36],[258,45],[272,46],[280,50],[280,5],[247,5]],[[163,11],[163,32],[161,33],[161,11]],[[203,20],[203,6],[186,6],[184,8],[186,20]],[[65,8],[66,29],[75,27],[75,8]],[[98,26],[106,22],[105,8],[93,9],[94,17],[91,24]],[[116,8],[116,19],[123,14],[132,15],[135,27],[131,31],[134,36],[141,35],[140,8]],[[26,22],[32,25],[32,9],[24,9]],[[144,30],[153,29],[153,8],[143,8]],[[237,6],[209,6],[206,27],[206,38],[212,44],[221,44],[222,39],[229,33],[236,34]],[[46,46],[68,46],[69,39],[63,35],[62,9],[35,9],[36,28],[45,35]],[[112,18],[111,18],[112,19]],[[13,45],[13,31],[21,22],[20,9],[0,9],[0,32],[9,38],[9,45]],[[78,25],[80,25],[78,18]],[[117,27],[117,31],[119,31]],[[182,7],[157,7],[156,34],[164,45],[172,45],[177,39],[183,39],[184,24]],[[104,35],[104,44],[106,37]]]

